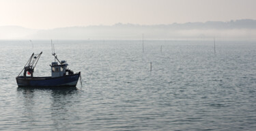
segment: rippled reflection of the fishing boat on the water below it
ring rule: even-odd
[[[18,87],[19,112],[24,130],[67,129],[72,123],[70,115],[76,112],[79,97],[76,87]],[[29,128],[27,128],[29,127]]]

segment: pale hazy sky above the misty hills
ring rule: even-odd
[[[31,29],[256,19],[255,0],[0,0],[0,26]]]

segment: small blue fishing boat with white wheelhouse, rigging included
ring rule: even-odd
[[[16,77],[18,87],[75,87],[79,78],[81,78],[81,72],[74,73],[68,69],[68,63],[66,61],[59,61],[57,55],[52,53],[55,57],[55,61],[51,63],[51,76],[34,77],[33,72],[40,54],[32,54],[27,61],[23,70],[23,76],[18,74]],[[56,61],[57,60],[57,61]],[[28,76],[27,76],[28,75]]]

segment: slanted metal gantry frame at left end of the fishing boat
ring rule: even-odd
[[[27,61],[27,63],[25,64],[23,70],[24,70],[24,77],[26,77],[26,73],[29,72],[31,74],[31,77],[33,77],[33,70],[35,69],[36,64],[38,63],[38,60],[40,58],[40,56],[42,55],[42,52],[40,54],[34,55],[34,53],[31,55],[31,57],[29,58],[29,60]],[[23,70],[21,70],[21,72],[23,72]],[[21,74],[20,72],[20,74]],[[18,76],[20,76],[20,74],[18,74]]]

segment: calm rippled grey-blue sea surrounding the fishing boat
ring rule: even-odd
[[[51,75],[51,41],[0,41],[0,130],[256,130],[256,42],[53,42],[83,85],[18,88],[33,52]]]

